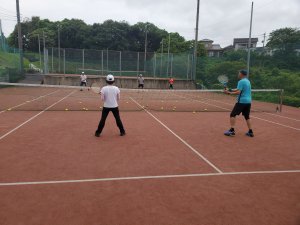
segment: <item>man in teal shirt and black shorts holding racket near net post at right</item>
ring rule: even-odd
[[[250,119],[250,110],[251,110],[251,83],[247,78],[248,72],[246,70],[240,70],[239,72],[239,79],[238,86],[236,89],[233,90],[224,90],[226,94],[229,95],[238,95],[237,96],[237,102],[230,113],[230,125],[231,128],[224,133],[226,136],[235,136],[235,121],[236,116],[240,115],[241,113],[245,117],[245,120],[247,122],[247,126],[249,128],[248,132],[246,133],[249,137],[254,137],[252,125],[251,125],[251,119]]]

